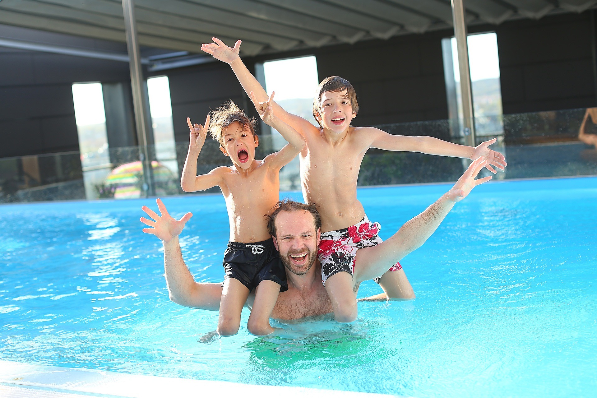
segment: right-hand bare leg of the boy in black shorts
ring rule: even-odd
[[[272,334],[277,328],[269,324],[269,317],[278,300],[280,285],[273,280],[261,280],[255,289],[255,301],[251,308],[251,315],[247,329],[254,335],[264,336]]]

